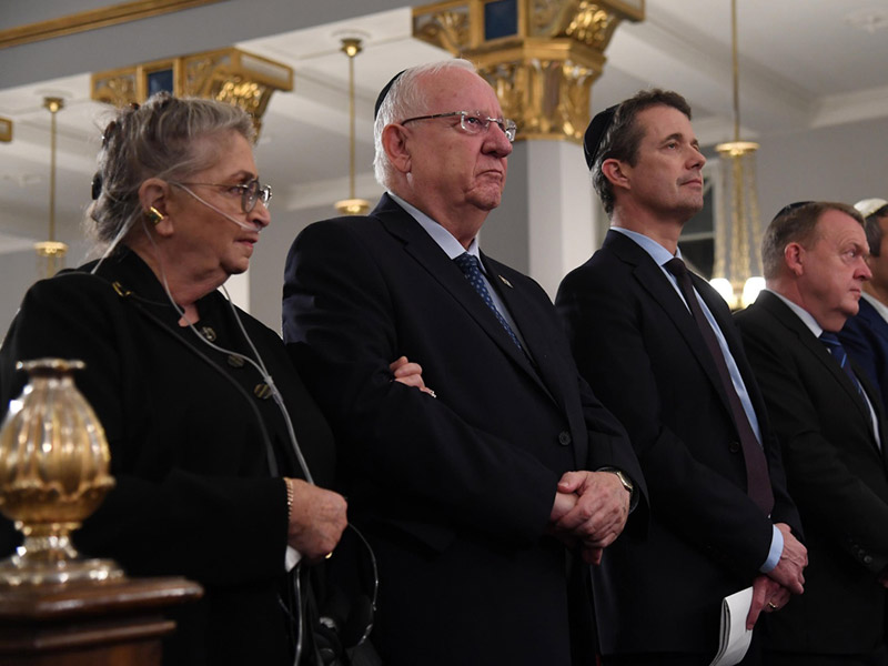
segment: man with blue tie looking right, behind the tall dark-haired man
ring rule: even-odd
[[[870,276],[864,220],[803,202],[765,232],[767,289],[736,315],[805,524],[805,594],[768,617],[768,664],[885,665],[888,472],[878,394],[836,333]]]

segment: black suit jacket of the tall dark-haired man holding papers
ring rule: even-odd
[[[647,541],[620,539],[593,571],[605,655],[714,656],[722,598],[753,583],[768,555],[771,523],[799,529],[730,312],[706,282],[693,280],[749,391],[776,504],[768,519],[746,494],[727,396],[684,301],[645,250],[609,231],[556,299],[579,370],[626,425],[650,492]]]

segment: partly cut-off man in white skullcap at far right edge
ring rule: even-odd
[[[839,340],[881,394],[888,413],[888,201],[864,199],[854,204],[864,216],[869,270],[860,310],[839,332]]]

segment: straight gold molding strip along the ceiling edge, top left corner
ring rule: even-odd
[[[118,26],[220,0],[137,0],[0,30],[0,49]]]

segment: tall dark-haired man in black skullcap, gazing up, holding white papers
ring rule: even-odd
[[[610,230],[556,304],[652,503],[648,538],[619,539],[593,571],[603,660],[706,666],[725,596],[754,586],[751,627],[803,592],[798,513],[730,312],[678,251],[706,161],[687,102],[643,91],[596,115],[584,149]]]

